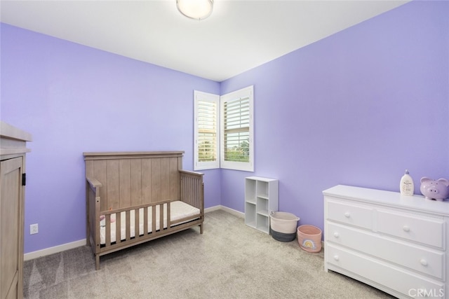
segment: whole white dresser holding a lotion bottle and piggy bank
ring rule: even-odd
[[[449,202],[351,186],[324,195],[324,270],[398,298],[449,299]]]

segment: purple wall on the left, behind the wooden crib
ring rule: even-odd
[[[182,150],[193,169],[193,90],[220,92],[214,81],[5,24],[1,87],[1,120],[34,139],[25,253],[86,237],[84,151]],[[206,207],[220,204],[220,172],[205,185]],[[39,234],[29,235],[32,223]]]

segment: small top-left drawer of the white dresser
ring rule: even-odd
[[[328,220],[373,229],[373,209],[357,204],[327,200]]]

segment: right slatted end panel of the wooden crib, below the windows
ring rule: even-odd
[[[204,183],[200,172],[180,170],[180,200],[204,211]]]

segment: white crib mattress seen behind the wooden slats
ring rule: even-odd
[[[154,207],[148,207],[148,232],[152,232],[152,209],[156,209],[156,230],[159,230],[159,205]],[[167,228],[167,204],[163,205],[163,228]],[[196,207],[192,207],[190,204],[186,204],[185,202],[181,202],[180,200],[176,200],[174,202],[170,202],[170,223],[173,223],[177,220],[180,220],[185,217],[193,217],[195,215],[199,215],[200,210]],[[116,215],[111,214],[111,242],[116,242],[116,226],[115,222]],[[181,223],[186,223],[188,221],[192,221],[194,218],[176,223],[175,225],[179,225]],[[139,209],[139,235],[143,235],[144,232],[144,208]],[[173,225],[172,225],[173,226]],[[105,227],[105,219],[100,221],[100,244],[105,244],[105,235],[106,235],[106,227]],[[130,237],[135,236],[135,216],[134,210],[130,211]],[[121,239],[126,239],[126,212],[121,212]]]

